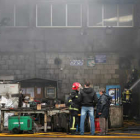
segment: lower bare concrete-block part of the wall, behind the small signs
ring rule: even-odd
[[[87,66],[88,59],[101,53],[4,53],[0,55],[0,75],[13,75],[16,80],[30,78],[46,78],[58,80],[58,97],[64,99],[73,82],[84,84],[89,79],[93,86],[125,84],[129,70],[119,69],[120,55],[103,53],[106,63]],[[59,58],[60,65],[55,64]],[[71,66],[71,60],[83,60],[82,66]],[[133,59],[132,63],[137,64]],[[121,76],[121,77],[120,77]],[[121,81],[122,80],[122,81]]]

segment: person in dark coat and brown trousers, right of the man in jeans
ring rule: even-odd
[[[106,135],[108,132],[108,117],[111,97],[105,94],[105,89],[100,88],[100,98],[97,104],[97,112],[99,115],[100,135]]]

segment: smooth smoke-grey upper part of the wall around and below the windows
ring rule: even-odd
[[[1,0],[3,1],[3,0]],[[47,0],[46,0],[47,1]],[[18,1],[19,2],[19,1]],[[68,1],[73,2],[73,0]],[[30,0],[29,27],[0,27],[1,52],[137,52],[140,37],[140,4],[134,4],[134,27],[87,27],[87,1],[82,4],[81,28],[39,28],[36,27],[35,8],[37,1]],[[98,3],[122,3],[122,1],[99,0]],[[17,3],[13,0],[13,3]],[[95,3],[96,4],[96,3]]]

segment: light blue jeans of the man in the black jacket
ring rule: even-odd
[[[84,135],[84,124],[85,124],[85,118],[86,118],[87,113],[90,117],[91,135],[94,135],[94,133],[95,133],[94,108],[93,107],[85,107],[85,106],[82,106],[82,108],[81,108],[80,134]]]

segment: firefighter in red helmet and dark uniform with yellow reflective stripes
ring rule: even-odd
[[[80,108],[80,99],[79,99],[79,92],[80,92],[81,84],[78,82],[73,83],[72,91],[69,96],[68,105],[70,110],[70,132],[71,134],[76,133],[76,127],[78,126],[78,113]]]

